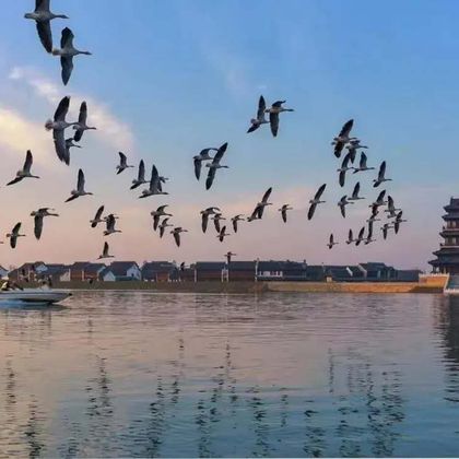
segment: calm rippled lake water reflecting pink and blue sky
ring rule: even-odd
[[[0,457],[458,456],[459,298],[0,307]]]

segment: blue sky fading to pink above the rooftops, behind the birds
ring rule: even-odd
[[[0,184],[34,154],[25,179],[0,186],[2,236],[23,222],[26,237],[16,249],[0,246],[1,264],[24,261],[95,260],[104,240],[118,260],[306,260],[310,264],[385,261],[400,268],[428,269],[440,242],[443,205],[459,196],[459,32],[456,1],[368,2],[54,0],[52,34],[69,26],[79,49],[68,86],[59,59],[47,55],[35,25],[24,13],[34,1],[9,2],[0,28]],[[262,127],[247,134],[258,97],[286,99],[294,113],[281,115],[274,139]],[[59,99],[71,96],[69,119],[87,102],[89,123],[70,167],[58,161],[44,123]],[[340,162],[330,142],[354,119],[353,133],[368,145],[368,165],[387,161],[386,187],[409,222],[401,232],[368,246],[348,246],[349,228],[358,232],[376,198],[373,173],[338,185]],[[192,156],[228,142],[210,191],[197,181]],[[118,152],[146,169],[155,164],[169,177],[164,197],[139,200],[129,190],[137,169],[116,175]],[[78,169],[92,197],[63,201],[75,187]],[[367,199],[349,209],[337,205],[356,177]],[[308,200],[327,183],[327,203],[307,221]],[[213,227],[202,234],[199,211],[217,205],[229,219],[248,215],[268,187],[272,207],[262,221],[242,223],[223,244]],[[289,222],[278,209],[290,203]],[[120,234],[104,238],[89,220],[98,205],[119,215]],[[150,212],[168,204],[172,223],[189,229],[176,247],[172,235],[153,232]],[[52,207],[42,239],[33,236],[30,213]],[[377,229],[378,233],[379,229]],[[326,247],[334,234],[340,244]],[[2,237],[3,242],[7,239]]]

